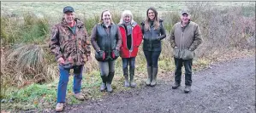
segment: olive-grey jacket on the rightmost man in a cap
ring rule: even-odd
[[[182,27],[182,22],[176,23],[170,32],[170,46],[177,59],[193,59],[194,50],[202,43],[199,25],[190,21]]]

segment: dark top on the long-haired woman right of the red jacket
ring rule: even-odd
[[[150,30],[146,31],[145,22],[141,23],[141,31],[143,33],[143,50],[144,51],[161,51],[161,40],[166,37],[163,25],[164,20],[159,20],[158,30],[154,30],[154,26],[150,26]]]

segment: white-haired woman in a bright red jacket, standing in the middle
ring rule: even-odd
[[[129,10],[125,10],[122,13],[121,20],[119,22],[119,29],[122,34],[122,46],[120,48],[120,54],[122,57],[122,71],[125,78],[124,87],[136,87],[134,82],[134,69],[135,69],[135,57],[137,56],[140,43],[142,41],[142,32],[140,25],[133,20],[133,14]],[[129,74],[128,74],[128,65]],[[128,75],[130,76],[130,82],[128,82]]]

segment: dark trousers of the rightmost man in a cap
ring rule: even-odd
[[[185,85],[191,86],[192,84],[192,61],[193,59],[176,59],[176,72],[175,81],[178,83],[182,82],[182,66],[185,66]]]

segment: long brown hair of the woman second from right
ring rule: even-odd
[[[146,29],[146,31],[150,30],[150,22],[149,22],[150,19],[148,18],[148,11],[149,10],[152,10],[155,14],[155,19],[154,19],[154,24],[153,25],[154,25],[154,30],[157,30],[160,26],[160,22],[159,22],[159,19],[158,19],[158,12],[155,8],[152,8],[152,7],[148,8],[146,10],[145,29]]]

